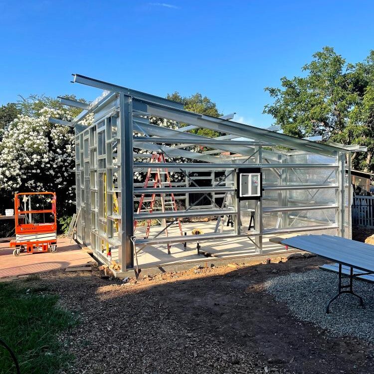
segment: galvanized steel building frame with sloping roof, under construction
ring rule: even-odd
[[[232,196],[234,208],[225,209],[223,205],[218,206],[214,199],[210,198],[209,193],[220,192],[225,195],[234,193],[237,186],[228,185],[226,178],[231,173],[235,174],[238,169],[249,166],[260,167],[263,172],[270,170],[279,181],[274,185],[273,182],[269,183],[270,180],[265,180],[263,184],[264,194],[270,194],[264,195],[264,201],[271,196],[272,191],[275,191],[275,193],[278,193],[277,204],[263,207],[262,199],[255,204],[256,231],[251,233],[251,236],[254,237],[254,242],[260,252],[262,250],[262,236],[267,234],[339,229],[339,234],[345,235],[345,155],[350,155],[351,152],[365,151],[363,147],[319,144],[240,124],[227,118],[215,118],[187,112],[183,109],[181,103],[175,103],[154,95],[78,74],[74,75],[74,82],[106,90],[102,96],[90,104],[61,98],[63,104],[82,108],[83,111],[71,122],[51,119],[51,122],[55,124],[71,126],[76,131],[77,211],[82,208],[81,218],[77,222],[77,236],[79,240],[90,246],[94,246],[94,238],[98,237],[106,240],[113,248],[118,248],[118,259],[116,261],[122,265],[122,269],[133,268],[134,254],[136,254],[134,251],[135,245],[139,247],[151,242],[166,243],[179,242],[181,240],[181,238],[169,237],[166,239],[165,237],[160,237],[160,234],[165,230],[163,229],[154,238],[136,239],[135,243],[133,242],[134,193],[145,193],[145,191],[144,189],[133,187],[132,177],[135,171],[146,170],[149,167],[148,163],[134,162],[134,158],[150,158],[153,152],[163,152],[169,159],[185,157],[189,160],[202,161],[184,164],[165,162],[158,166],[179,171],[185,176],[187,181],[186,187],[168,187],[172,193],[186,194],[186,209],[178,211],[177,214],[171,212],[172,214],[168,215],[169,212],[165,212],[162,218],[172,218],[172,221],[174,221],[176,219],[175,215],[187,217],[189,214],[221,215],[222,213],[233,213],[233,219],[235,220],[234,233],[205,234],[198,238],[199,241],[248,236],[247,233],[241,233],[240,203],[238,203],[236,197]],[[95,116],[94,124],[84,127],[80,122],[91,113]],[[164,128],[151,124],[149,121],[150,117],[169,119],[177,123],[186,124],[187,127],[176,130]],[[100,138],[100,131],[103,130],[101,126],[103,121],[105,122],[104,128],[106,131],[104,132],[104,146],[101,147],[102,138]],[[113,126],[116,128],[116,132],[113,132]],[[211,129],[225,135],[211,139],[186,132],[187,129],[196,128]],[[135,135],[134,131],[139,132],[141,135]],[[238,140],[233,140],[235,138]],[[201,153],[193,152],[188,149],[189,146],[193,145],[205,146],[213,150]],[[282,149],[277,149],[278,146],[281,146]],[[102,148],[101,151],[103,152],[100,151],[100,148]],[[287,150],[287,148],[290,150]],[[134,149],[143,149],[149,151],[150,154],[139,155],[136,152],[134,153]],[[221,154],[221,151],[227,154]],[[308,160],[304,162],[297,160],[295,162],[294,160],[296,159],[294,157],[299,155],[306,155],[306,157],[309,157],[309,155],[323,155],[324,157],[330,157],[330,161],[323,160],[322,162],[310,163]],[[238,157],[242,157],[242,159],[239,160]],[[350,163],[348,167],[350,168]],[[321,171],[329,171],[329,169],[331,173],[335,173],[338,176],[335,183],[329,183],[327,181],[329,178],[319,182],[314,182],[311,178],[310,180],[308,179],[307,185],[301,180],[291,184],[290,180],[287,179],[290,173],[294,171],[297,173],[298,170],[306,170],[307,175],[312,176]],[[224,171],[226,177],[213,187],[198,187],[195,181],[189,177],[187,170],[196,173],[214,170]],[[109,181],[114,181],[113,190],[106,192],[108,208],[113,203],[112,194],[118,194],[120,204],[120,212],[116,216],[119,226],[118,237],[113,236],[113,230],[111,231],[113,214],[108,213],[108,217],[105,218],[100,213],[102,209],[100,205],[102,173],[106,174],[108,183]],[[189,184],[192,186],[189,187]],[[346,188],[349,194],[350,184]],[[166,187],[163,187],[161,189],[162,192],[160,192],[168,193],[169,190],[167,191],[166,189]],[[309,189],[315,189],[315,193],[310,192]],[[318,223],[316,226],[291,227],[295,224],[296,219],[306,219],[307,222],[313,222],[313,219],[305,217],[294,217],[289,224],[287,211],[292,209],[294,201],[289,198],[288,194],[290,191],[300,191],[301,193],[303,190],[307,191],[311,199],[314,199],[312,196],[319,191],[336,191],[334,201],[318,203],[317,199],[317,203],[299,204],[299,210],[304,208],[304,205],[311,211],[320,210],[322,212],[321,216],[324,217],[325,215],[321,222],[326,222],[325,224]],[[193,192],[201,192],[202,196],[193,204],[189,204],[188,193]],[[202,211],[196,212],[199,201],[205,196],[208,197],[211,205]],[[326,215],[329,209],[336,210],[334,223],[331,223],[332,220]],[[297,210],[297,208],[294,210]],[[265,224],[264,219],[271,218],[272,214],[280,217],[282,223],[278,226],[276,224]],[[107,228],[105,229],[106,231],[103,231],[101,225],[105,221]],[[93,240],[92,243],[91,239]],[[185,240],[189,242],[196,239],[187,237]],[[98,258],[104,261],[107,260],[100,253],[95,252],[95,254]]]

